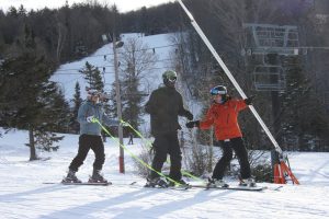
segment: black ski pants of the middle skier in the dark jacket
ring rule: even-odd
[[[163,163],[167,160],[167,154],[170,155],[170,173],[169,177],[174,181],[182,178],[182,152],[180,149],[177,131],[170,131],[155,136],[154,142],[155,158],[152,161],[152,169],[161,172]],[[150,178],[158,177],[159,175],[151,171]]]

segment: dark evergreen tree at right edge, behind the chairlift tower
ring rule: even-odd
[[[284,107],[282,129],[288,149],[296,149],[290,147],[297,145],[303,151],[319,150],[314,141],[328,140],[329,120],[325,105],[318,100],[310,84],[303,72],[299,58],[291,57],[287,68],[287,89],[282,95]]]

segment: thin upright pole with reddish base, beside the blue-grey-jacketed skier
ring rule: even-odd
[[[116,112],[118,120],[122,120],[122,108],[121,108],[121,93],[120,93],[120,81],[118,81],[118,65],[117,65],[117,54],[116,54],[116,38],[115,34],[113,34],[113,54],[114,54],[114,72],[115,72],[115,93],[116,93]],[[118,141],[123,145],[123,127],[118,126]],[[124,162],[124,149],[120,148],[120,157],[118,157],[118,166],[120,173],[125,173],[125,162]]]

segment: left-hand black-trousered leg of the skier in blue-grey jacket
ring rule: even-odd
[[[72,160],[72,162],[69,165],[69,170],[77,172],[78,169],[83,164],[83,161],[87,158],[87,154],[90,149],[90,137],[87,135],[81,135],[79,137],[79,149],[78,149],[78,154],[76,158]]]

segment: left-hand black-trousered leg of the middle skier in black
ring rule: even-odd
[[[161,172],[163,163],[167,160],[168,153],[168,141],[164,135],[155,136],[155,142],[152,143],[155,157],[152,160],[152,169],[157,172]],[[159,174],[155,171],[151,171],[150,178],[158,177]]]

